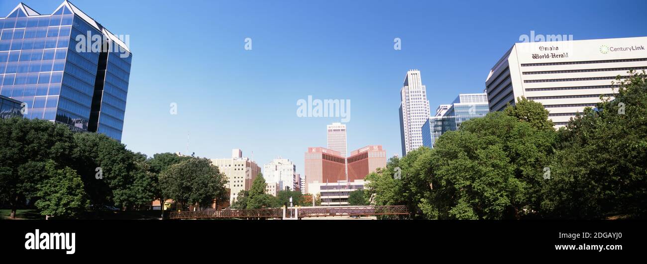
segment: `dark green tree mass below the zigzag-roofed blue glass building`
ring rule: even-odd
[[[10,217],[25,204],[55,217],[104,206],[149,208],[155,199],[178,194],[163,192],[160,178],[181,162],[186,164],[166,173],[169,179],[191,180],[187,196],[178,196],[181,202],[204,208],[228,199],[226,179],[209,160],[173,153],[148,158],[98,133],[72,133],[46,120],[0,119],[0,204],[12,209]]]

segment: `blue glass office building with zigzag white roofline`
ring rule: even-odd
[[[27,103],[25,118],[121,140],[132,55],[64,1],[50,15],[20,3],[0,17],[0,94]]]

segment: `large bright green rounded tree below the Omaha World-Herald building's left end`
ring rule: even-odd
[[[538,129],[504,113],[468,120],[459,131],[445,133],[432,151],[433,190],[421,206],[424,215],[520,219],[538,212],[543,168],[555,138],[553,129]]]

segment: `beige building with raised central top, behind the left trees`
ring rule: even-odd
[[[261,168],[247,157],[243,157],[240,149],[232,150],[232,157],[228,159],[212,159],[212,165],[227,177],[227,188],[230,190],[229,201],[234,203],[240,191],[248,191],[252,188],[252,182]]]

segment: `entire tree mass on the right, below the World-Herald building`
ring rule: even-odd
[[[367,176],[365,197],[424,219],[643,218],[647,208],[644,72],[553,129],[540,103],[463,122]]]

